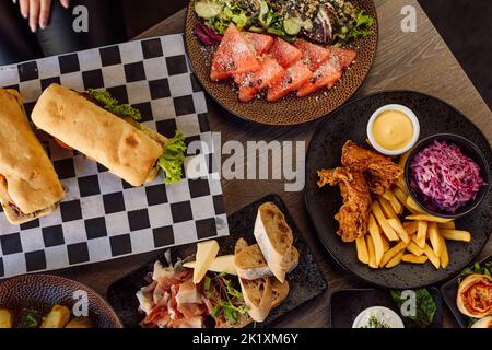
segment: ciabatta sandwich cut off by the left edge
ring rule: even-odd
[[[0,201],[9,222],[22,224],[52,212],[65,191],[19,92],[0,89]]]

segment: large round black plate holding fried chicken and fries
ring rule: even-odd
[[[318,236],[333,258],[359,278],[385,288],[413,289],[442,282],[476,259],[492,231],[492,194],[489,192],[472,213],[456,220],[456,226],[470,231],[470,243],[447,242],[449,265],[436,270],[431,264],[400,264],[393,269],[374,270],[359,262],[353,244],[344,244],[336,234],[333,219],[342,205],[338,187],[316,185],[316,171],[340,165],[341,149],[347,140],[366,145],[366,126],[371,115],[386,104],[402,104],[420,121],[421,138],[435,133],[457,133],[482,150],[489,164],[492,151],[481,131],[458,110],[434,97],[407,91],[383,92],[344,105],[323,122],[309,144],[306,161],[305,200]]]

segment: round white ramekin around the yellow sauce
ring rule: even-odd
[[[373,136],[373,126],[374,126],[374,121],[376,120],[376,118],[386,110],[399,110],[401,113],[403,113],[406,116],[408,116],[410,118],[410,121],[413,125],[413,136],[412,139],[410,140],[410,142],[403,147],[402,149],[399,150],[386,150],[385,148],[383,148],[382,145],[379,145],[376,140],[374,139]],[[391,156],[396,156],[396,155],[401,155],[405,152],[409,151],[412,147],[415,145],[417,141],[419,140],[419,136],[420,136],[420,124],[419,124],[419,119],[417,118],[415,114],[408,107],[403,106],[403,105],[398,105],[398,104],[390,104],[390,105],[385,105],[380,108],[378,108],[376,112],[373,113],[373,115],[371,116],[368,122],[367,122],[367,138],[371,142],[371,145],[378,151],[379,153],[386,154],[386,155],[391,155]]]

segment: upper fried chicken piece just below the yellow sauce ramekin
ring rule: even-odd
[[[341,162],[351,171],[364,173],[371,191],[379,196],[389,189],[403,173],[401,167],[389,158],[360,148],[350,140],[343,145]]]

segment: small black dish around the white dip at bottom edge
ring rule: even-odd
[[[436,312],[431,328],[443,327],[443,299],[437,288],[427,289],[434,299]],[[331,328],[352,328],[355,317],[371,306],[385,306],[401,316],[400,310],[393,301],[388,290],[384,289],[350,289],[335,292],[330,302]],[[401,316],[405,328],[417,328],[415,324]]]

